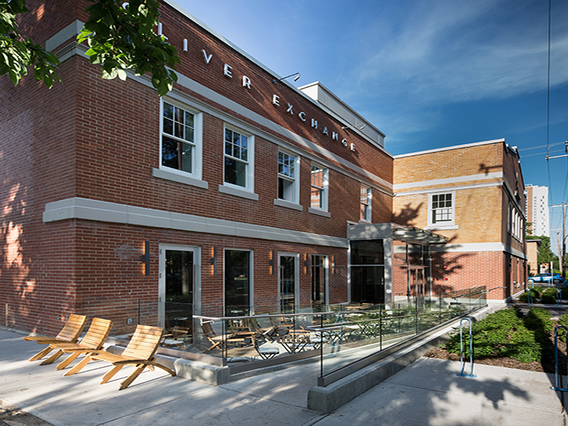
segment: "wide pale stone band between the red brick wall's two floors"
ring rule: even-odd
[[[300,206],[301,207],[301,206]],[[67,219],[84,219],[116,224],[151,226],[162,229],[203,232],[225,236],[283,241],[316,246],[349,248],[349,241],[337,236],[312,234],[292,229],[273,228],[271,226],[246,224],[224,219],[195,216],[168,212],[158,209],[146,209],[128,204],[89,200],[87,198],[67,198],[45,204],[43,222],[58,222]]]

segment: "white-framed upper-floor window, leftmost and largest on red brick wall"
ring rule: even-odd
[[[201,114],[162,99],[160,169],[201,179]]]

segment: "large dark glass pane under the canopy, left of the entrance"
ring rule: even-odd
[[[351,241],[351,302],[385,302],[383,240]]]

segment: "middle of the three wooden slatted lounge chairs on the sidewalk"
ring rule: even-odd
[[[69,364],[74,361],[77,356],[79,356],[84,350],[95,350],[98,351],[102,349],[102,345],[109,337],[112,328],[112,321],[111,320],[103,320],[102,318],[93,318],[91,321],[91,325],[87,330],[87,333],[81,339],[80,343],[71,343],[71,342],[58,342],[58,343],[50,343],[50,347],[52,349],[58,349],[55,354],[50,356],[48,359],[45,359],[40,365],[44,366],[46,364],[52,364],[55,360],[57,360],[62,354],[63,351],[71,352],[70,356],[67,356],[66,359],[61,361],[59,365],[56,367],[58,370],[65,368]]]

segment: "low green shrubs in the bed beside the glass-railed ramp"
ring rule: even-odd
[[[552,321],[542,309],[533,308],[526,317],[515,307],[494,312],[472,326],[474,359],[508,356],[520,362],[540,361],[547,329],[552,329]],[[460,353],[459,329],[454,329],[444,349]],[[464,329],[464,356],[469,356],[467,329]]]

